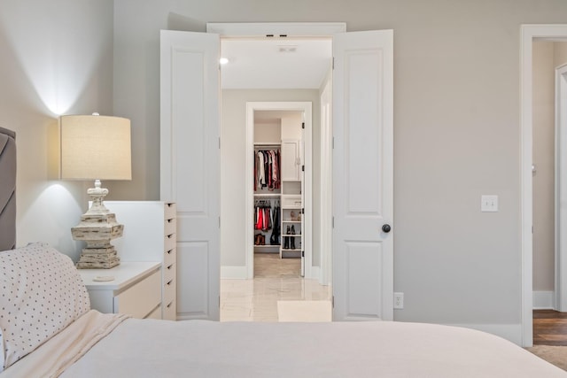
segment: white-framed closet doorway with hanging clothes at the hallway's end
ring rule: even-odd
[[[312,275],[312,130],[311,103],[246,104],[246,224],[254,224],[246,239],[248,278],[254,254],[269,252],[299,258],[300,275]],[[263,156],[278,161],[276,177],[260,178],[259,164],[268,166]],[[273,224],[266,227],[266,219]]]

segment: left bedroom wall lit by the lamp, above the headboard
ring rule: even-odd
[[[18,245],[43,241],[78,259],[82,182],[58,181],[59,114],[112,114],[113,1],[0,2],[0,126],[18,146]],[[1,179],[0,179],[1,180]]]

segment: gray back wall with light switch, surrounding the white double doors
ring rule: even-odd
[[[115,1],[114,106],[138,135],[132,197],[159,197],[159,28],[345,21],[394,29],[397,320],[518,325],[519,33],[560,23],[560,0]],[[298,10],[301,12],[298,12]],[[137,139],[136,139],[137,138]],[[500,212],[480,212],[480,196]]]

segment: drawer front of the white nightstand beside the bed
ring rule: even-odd
[[[144,319],[161,302],[161,274],[158,271],[114,297],[114,312]]]

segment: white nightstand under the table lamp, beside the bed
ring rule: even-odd
[[[161,319],[161,263],[122,262],[112,269],[77,271],[89,290],[92,309]]]

